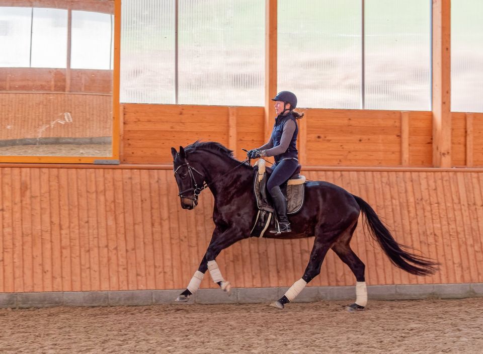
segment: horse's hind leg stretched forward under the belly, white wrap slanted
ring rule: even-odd
[[[330,242],[328,242],[327,239],[330,239],[330,237],[326,237],[326,235],[315,237],[312,252],[310,252],[310,259],[302,278],[297,280],[279,300],[271,303],[270,306],[283,309],[286,303],[292,302],[295,297],[300,294],[307,283],[320,274],[320,267],[322,266],[324,257],[331,247]]]

